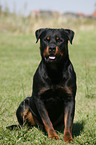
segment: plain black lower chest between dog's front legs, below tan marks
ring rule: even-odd
[[[53,122],[57,120],[63,112],[66,98],[67,96],[63,89],[56,87],[51,89],[46,88],[46,91],[41,94],[40,99],[44,102],[48,114]]]

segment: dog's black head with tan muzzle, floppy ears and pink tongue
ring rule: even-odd
[[[69,29],[39,29],[35,32],[40,39],[40,50],[45,62],[59,62],[68,57],[68,40],[72,44],[74,32]]]

